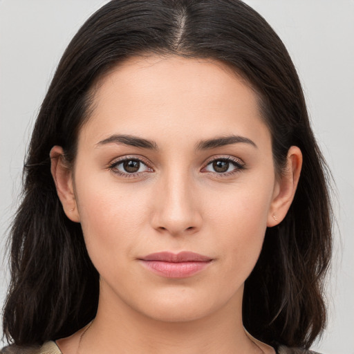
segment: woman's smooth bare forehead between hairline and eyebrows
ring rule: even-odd
[[[96,140],[111,133],[209,138],[266,129],[248,82],[212,59],[131,57],[97,82],[93,102],[84,130]]]

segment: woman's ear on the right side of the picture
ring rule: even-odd
[[[278,225],[285,218],[294,199],[302,166],[302,153],[299,147],[290,147],[286,158],[286,168],[276,182],[272,203],[268,212],[267,226]]]

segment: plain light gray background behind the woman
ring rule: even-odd
[[[354,354],[354,1],[247,0],[286,44],[337,184],[325,354]],[[66,45],[106,1],[0,0],[0,245],[15,211],[25,147]],[[309,186],[310,187],[310,186]],[[0,256],[0,303],[8,273]]]

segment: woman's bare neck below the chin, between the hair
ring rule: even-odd
[[[162,321],[138,312],[104,288],[97,316],[82,336],[81,352],[115,353],[119,348],[120,353],[135,354],[262,353],[245,333],[241,310],[242,292],[203,317]]]

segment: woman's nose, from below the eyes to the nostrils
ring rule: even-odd
[[[153,228],[178,236],[198,232],[202,223],[201,203],[187,172],[175,170],[160,178],[153,196]]]

